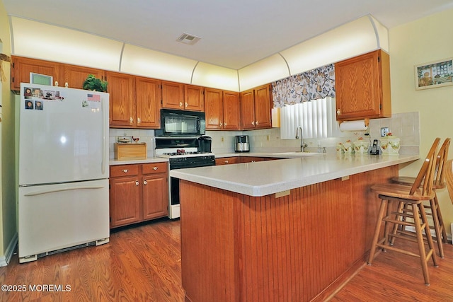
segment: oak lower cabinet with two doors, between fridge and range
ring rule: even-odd
[[[167,215],[167,163],[110,166],[110,228]]]

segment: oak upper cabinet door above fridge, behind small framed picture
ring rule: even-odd
[[[30,72],[53,76],[54,83],[52,85],[56,85],[55,82],[58,82],[59,86],[64,86],[59,83],[61,76],[61,64],[59,63],[12,56],[11,66],[12,91],[20,91],[21,83],[30,83]]]

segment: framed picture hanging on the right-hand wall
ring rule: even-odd
[[[453,85],[453,58],[415,65],[415,90]]]

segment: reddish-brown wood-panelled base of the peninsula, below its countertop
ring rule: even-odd
[[[365,265],[379,210],[369,185],[397,175],[394,164],[277,198],[180,180],[185,300],[325,301]]]

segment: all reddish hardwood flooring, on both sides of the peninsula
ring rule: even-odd
[[[418,259],[382,252],[330,301],[453,301],[453,245],[444,247],[439,267],[430,262],[430,286]],[[0,267],[0,284],[25,291],[0,291],[0,301],[182,302],[180,276],[180,221],[164,219],[113,231],[110,243],[98,247],[25,264],[14,255]]]

